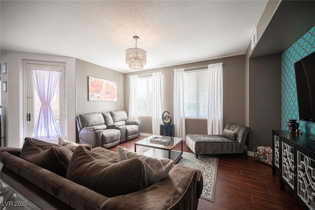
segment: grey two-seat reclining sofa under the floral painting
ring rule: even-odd
[[[80,114],[76,123],[79,141],[93,148],[110,148],[140,135],[140,121],[128,119],[125,110]]]

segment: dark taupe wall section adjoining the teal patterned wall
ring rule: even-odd
[[[281,55],[249,60],[249,150],[271,146],[272,129],[281,128]]]

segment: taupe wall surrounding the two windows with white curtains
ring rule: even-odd
[[[129,106],[129,75],[150,74],[163,71],[163,110],[168,110],[173,116],[173,80],[174,69],[205,66],[223,62],[223,126],[227,123],[245,125],[245,56],[232,56],[202,62],[183,64],[154,70],[143,70],[125,73],[125,103],[124,108],[128,111]],[[152,134],[151,117],[139,117],[141,132]],[[187,134],[207,134],[207,121],[203,119],[186,119]]]

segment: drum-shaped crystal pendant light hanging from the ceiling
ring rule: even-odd
[[[136,40],[136,47],[126,49],[126,63],[132,70],[142,70],[147,63],[147,52],[137,48],[139,36],[133,36],[133,39]]]

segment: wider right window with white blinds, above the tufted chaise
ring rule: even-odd
[[[208,70],[185,71],[185,117],[208,116]]]

